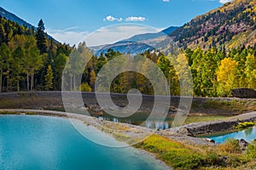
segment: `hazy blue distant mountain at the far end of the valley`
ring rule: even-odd
[[[147,50],[153,50],[157,44],[164,41],[172,31],[177,30],[178,27],[171,26],[163,31],[156,33],[138,34],[128,39],[107,44],[102,46],[90,47],[99,56],[101,53],[105,54],[109,48],[120,53],[141,54]]]

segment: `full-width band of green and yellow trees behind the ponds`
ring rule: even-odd
[[[68,77],[73,90],[94,91],[96,77],[103,65],[121,55],[108,49],[106,54],[96,56],[85,43],[70,47],[49,38],[44,32],[44,22],[38,28],[28,29],[15,22],[0,18],[0,91],[61,90],[61,77],[65,65],[72,54],[78,53],[84,60],[84,53],[90,54],[85,68],[83,62],[73,60],[75,66],[83,69],[82,76],[72,71]],[[151,59],[165,74],[172,95],[179,95],[181,84],[190,83],[188,69],[191,71],[193,93],[195,96],[230,96],[234,88],[256,89],[255,48],[187,48],[182,53],[162,54],[146,51],[130,59],[138,62],[143,71],[152,68],[139,60],[139,56]],[[186,65],[185,63],[188,63]],[[70,66],[70,69],[73,69]],[[77,71],[78,72],[78,71]],[[154,74],[154,73],[153,73]],[[155,75],[157,77],[157,75]],[[180,77],[183,77],[182,79]],[[80,80],[79,80],[80,78]],[[78,83],[79,82],[79,83]],[[81,85],[80,85],[81,84]],[[111,92],[127,93],[131,88],[143,94],[154,94],[154,85],[142,74],[127,71],[115,77]],[[164,89],[163,89],[164,90]],[[190,92],[189,92],[190,93]]]

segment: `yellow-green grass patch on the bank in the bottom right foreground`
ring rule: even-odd
[[[248,154],[243,154],[235,139],[229,139],[222,145],[194,146],[158,135],[152,135],[135,146],[154,153],[174,169],[230,169],[245,166],[255,161],[256,150],[256,145],[253,145],[247,151]]]

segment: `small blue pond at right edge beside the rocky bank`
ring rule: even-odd
[[[212,136],[209,139],[215,140],[216,144],[222,144],[225,142],[226,139],[245,139],[247,142],[252,142],[254,139],[256,139],[256,127],[248,128],[246,130],[242,130],[235,133],[227,133],[227,134],[221,134],[217,136]]]

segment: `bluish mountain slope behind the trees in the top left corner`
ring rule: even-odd
[[[7,20],[12,20],[18,23],[20,26],[26,26],[28,28],[34,28],[31,24],[27,23],[25,20],[20,19],[18,16],[15,14],[9,13],[7,10],[4,8],[0,7],[0,15],[2,17],[5,17]]]

